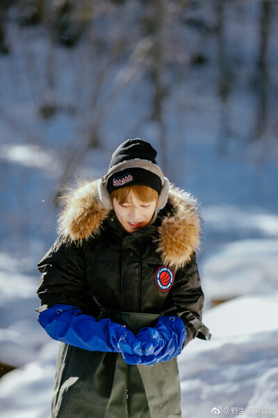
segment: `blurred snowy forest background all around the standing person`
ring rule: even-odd
[[[278,417],[277,23],[276,0],[1,1],[1,417],[49,417],[36,265],[63,185],[133,137],[204,219],[213,339],[179,358],[183,418]]]

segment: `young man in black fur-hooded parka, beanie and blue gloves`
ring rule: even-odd
[[[59,224],[38,264],[38,321],[60,341],[52,417],[181,417],[177,355],[210,339],[195,199],[130,139],[65,196]]]

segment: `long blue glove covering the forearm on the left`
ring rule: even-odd
[[[97,321],[72,305],[49,307],[39,314],[38,322],[53,339],[84,350],[120,353],[125,349],[133,355],[135,346],[140,351],[141,343],[126,327],[108,318]]]

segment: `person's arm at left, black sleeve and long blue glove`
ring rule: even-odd
[[[38,323],[53,339],[90,351],[120,353],[119,343],[135,341],[126,327],[104,318],[97,320],[87,307],[85,260],[82,247],[59,237],[38,263],[42,273],[38,296]],[[99,309],[97,307],[97,309]]]

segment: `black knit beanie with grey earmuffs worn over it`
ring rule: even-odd
[[[129,185],[145,185],[158,192],[158,208],[167,203],[169,181],[156,162],[156,150],[142,139],[128,139],[112,155],[108,173],[99,181],[99,197],[107,209],[112,209],[110,194]]]

